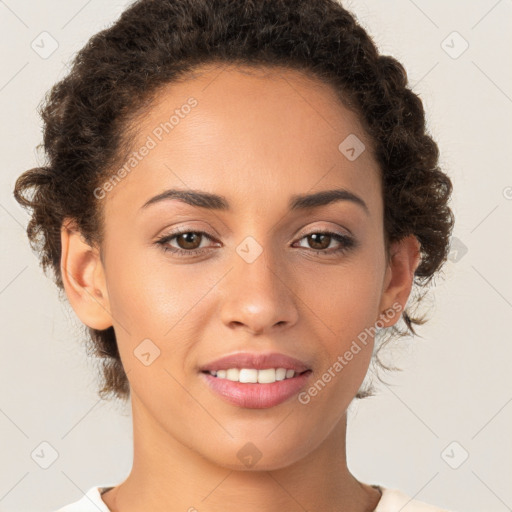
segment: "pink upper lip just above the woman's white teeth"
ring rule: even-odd
[[[266,354],[238,352],[211,361],[201,366],[200,370],[203,372],[211,372],[216,370],[228,370],[229,368],[254,368],[256,370],[264,370],[265,368],[286,368],[288,370],[295,370],[297,373],[309,370],[309,367],[302,361],[277,352]]]

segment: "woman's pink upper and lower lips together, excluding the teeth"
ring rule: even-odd
[[[234,382],[208,373],[229,368],[286,368],[294,370],[297,375],[271,384],[259,384]],[[306,386],[311,373],[312,370],[302,361],[279,353],[241,352],[201,367],[201,377],[214,393],[231,405],[247,409],[266,409],[285,402]]]

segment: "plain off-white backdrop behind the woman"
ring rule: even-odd
[[[41,162],[44,93],[127,4],[0,1],[4,511],[54,510],[93,485],[119,483],[131,467],[129,406],[97,397],[78,320],[39,268],[24,233],[28,216],[12,197],[16,177]],[[345,5],[383,53],[405,64],[454,182],[456,215],[423,337],[399,345],[404,371],[390,385],[351,405],[349,467],[364,482],[456,511],[512,510],[512,2]],[[48,56],[52,39],[58,48]],[[42,442],[58,453],[47,469],[52,449]]]

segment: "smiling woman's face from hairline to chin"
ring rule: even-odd
[[[339,148],[354,136],[366,148],[355,159]],[[132,151],[136,161],[113,170],[122,179],[98,190],[105,307],[86,320],[109,312],[135,423],[225,467],[244,466],[243,447],[261,453],[258,469],[306,457],[336,431],[367,372],[373,339],[361,333],[398,297],[379,168],[357,116],[294,71],[205,67],[160,91]],[[171,189],[219,197],[153,199]],[[299,201],[331,190],[346,192]],[[289,356],[308,371],[273,384],[202,371],[242,352]],[[244,386],[269,387],[244,398]]]

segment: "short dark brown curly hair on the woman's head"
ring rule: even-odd
[[[84,239],[101,247],[104,219],[94,190],[127,154],[137,115],[151,106],[160,87],[209,63],[301,71],[330,85],[357,114],[381,169],[386,254],[391,242],[411,234],[421,244],[413,282],[414,291],[423,291],[415,298],[417,308],[449,252],[452,183],[439,167],[438,146],[404,67],[380,55],[335,0],[138,0],[87,42],[38,108],[46,165],[25,171],[14,190],[32,211],[31,247],[44,272],[53,270],[60,293],[63,221],[73,219]],[[413,324],[425,323],[409,305],[401,320],[405,329],[385,329],[386,342],[416,334]],[[127,399],[129,383],[113,327],[84,327],[98,357],[100,396]],[[377,361],[390,369],[378,354]],[[371,394],[359,391],[356,397]]]

